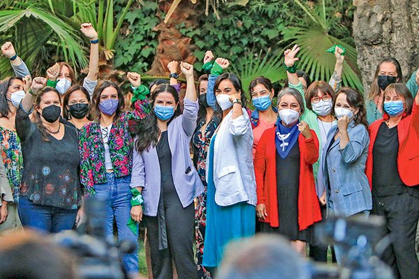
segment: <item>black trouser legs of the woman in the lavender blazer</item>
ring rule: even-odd
[[[154,279],[172,279],[172,261],[179,279],[198,278],[198,269],[193,256],[194,218],[193,203],[183,208],[176,199],[164,199],[168,248],[159,250],[159,220],[144,216],[147,237],[150,243]]]

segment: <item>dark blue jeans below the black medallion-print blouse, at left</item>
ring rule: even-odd
[[[61,209],[56,206],[34,204],[27,197],[20,197],[17,212],[23,227],[46,233],[72,229],[77,209]]]

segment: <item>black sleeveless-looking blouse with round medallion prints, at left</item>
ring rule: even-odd
[[[41,131],[29,119],[29,113],[17,109],[16,131],[22,140],[24,169],[20,196],[47,206],[78,209],[82,188],[79,178],[78,135],[72,126],[64,124],[64,136],[57,140]]]

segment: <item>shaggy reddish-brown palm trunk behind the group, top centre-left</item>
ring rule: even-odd
[[[159,9],[164,15],[168,13],[172,2],[170,0],[159,1]],[[199,14],[196,5],[190,0],[183,0],[179,3],[167,24],[164,22],[164,15],[159,13],[161,23],[154,28],[155,31],[160,32],[159,46],[156,50],[152,68],[147,74],[168,75],[167,65],[172,60],[195,62],[196,57],[193,55],[193,50],[196,47],[191,44],[191,38],[183,36],[177,30],[177,26],[183,23],[183,28],[196,28]]]

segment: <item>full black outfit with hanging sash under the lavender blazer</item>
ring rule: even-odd
[[[161,133],[156,145],[161,172],[157,216],[145,216],[154,278],[172,278],[175,262],[179,279],[198,278],[193,255],[194,204],[184,208],[172,176],[172,153],[168,132]]]

